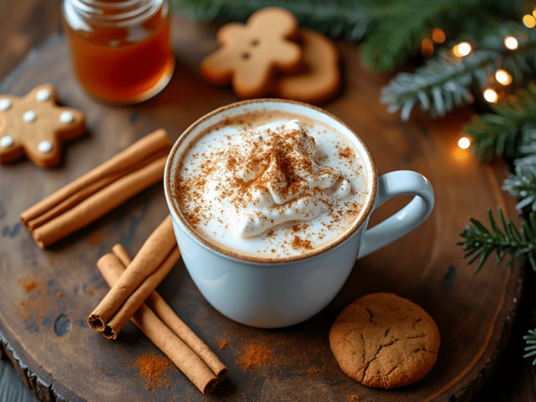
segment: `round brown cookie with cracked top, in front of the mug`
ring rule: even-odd
[[[440,336],[433,319],[417,304],[392,293],[373,293],[338,315],[329,344],[351,378],[389,389],[409,385],[431,370]]]

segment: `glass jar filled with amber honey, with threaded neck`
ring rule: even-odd
[[[167,0],[64,0],[64,30],[82,87],[115,105],[168,84],[175,59]]]

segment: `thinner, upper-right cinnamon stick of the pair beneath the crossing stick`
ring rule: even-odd
[[[119,258],[121,264],[124,267],[128,267],[131,263],[131,257],[128,255],[128,252],[121,244],[116,244],[112,247],[114,255]],[[97,263],[98,266],[98,263]],[[211,371],[218,378],[218,382],[225,378],[227,375],[228,368],[225,367],[225,364],[221,362],[220,359],[210,348],[193,332],[188,325],[184,323],[183,320],[179,318],[177,314],[173,311],[168,303],[165,302],[161,295],[158,295],[158,292],[151,292],[145,304],[151,308],[154,313],[162,320],[162,322],[174,332],[175,335],[181,338],[181,341],[186,343],[191,350],[193,350]]]

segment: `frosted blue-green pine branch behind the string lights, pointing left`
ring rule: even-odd
[[[507,33],[526,40],[516,50],[507,50],[503,43]],[[399,73],[382,88],[382,103],[389,105],[389,112],[401,110],[404,120],[415,105],[431,117],[440,117],[456,106],[471,103],[472,87],[483,91],[498,68],[509,71],[517,81],[535,74],[536,31],[510,22],[484,37],[482,45],[474,44],[474,51],[467,57],[459,59],[442,50],[415,73]]]

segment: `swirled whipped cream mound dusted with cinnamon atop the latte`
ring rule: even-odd
[[[230,214],[234,235],[248,239],[281,223],[311,221],[350,195],[338,169],[297,119],[283,130],[259,128],[226,147],[207,174],[204,197]]]

